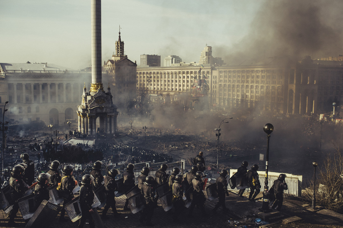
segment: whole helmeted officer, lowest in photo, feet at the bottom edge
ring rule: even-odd
[[[83,228],[86,219],[89,221],[89,227],[94,228],[94,220],[91,213],[93,213],[92,204],[94,199],[94,192],[92,188],[92,176],[84,175],[81,181],[80,188],[80,207],[82,216],[80,218],[79,228]]]

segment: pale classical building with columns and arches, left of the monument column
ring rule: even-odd
[[[11,122],[42,120],[47,125],[76,121],[76,106],[90,74],[49,63],[0,63],[0,111]]]

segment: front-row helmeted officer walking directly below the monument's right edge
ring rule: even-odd
[[[106,198],[106,205],[102,214],[102,218],[107,218],[106,214],[110,207],[112,207],[112,211],[114,216],[118,216],[117,208],[116,208],[116,194],[115,191],[118,191],[118,186],[115,177],[119,174],[118,169],[111,169],[108,170],[108,176],[105,177],[105,190],[107,194]]]

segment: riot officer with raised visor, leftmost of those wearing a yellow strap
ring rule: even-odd
[[[74,169],[73,165],[66,165],[63,167],[62,174],[64,174],[64,176],[62,177],[61,184],[57,187],[57,190],[60,191],[60,194],[64,198],[63,206],[74,199],[73,189],[75,187],[75,181],[72,178],[73,169]],[[60,221],[65,220],[64,219],[65,213],[66,211],[62,209]]]

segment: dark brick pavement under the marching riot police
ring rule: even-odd
[[[247,194],[245,194],[247,195]],[[132,214],[129,211],[123,211],[123,205],[125,203],[126,197],[121,196],[116,199],[117,202],[117,210],[121,215],[121,218],[114,218],[112,216],[111,209],[108,211],[108,219],[103,220],[104,225],[107,228],[110,227],[145,227],[145,225],[141,225],[138,221],[139,213]],[[206,200],[205,202],[205,211],[206,215],[202,216],[200,212],[200,208],[195,208],[193,211],[193,216],[188,216],[188,209],[186,208],[183,213],[179,216],[179,222],[173,222],[172,220],[172,213],[165,212],[158,201],[158,207],[154,211],[154,215],[152,217],[152,223],[155,225],[154,227],[163,227],[163,228],[189,228],[189,227],[218,227],[218,228],[227,228],[227,227],[240,227],[246,225],[247,227],[255,226],[255,218],[259,216],[258,208],[262,206],[262,202],[251,202],[247,200],[247,197],[240,198],[236,193],[230,193],[229,197],[226,197],[226,206],[229,208],[229,211],[223,211],[222,208],[218,208],[217,213],[213,213],[212,208],[215,206],[217,199],[212,201]],[[294,227],[293,225],[285,225],[282,224],[282,219],[290,218],[292,216],[298,216],[301,218],[300,226],[303,223],[305,224],[318,224],[321,225],[320,227],[326,227],[329,225],[335,225],[334,227],[340,227],[343,225],[343,215],[329,211],[325,208],[319,208],[318,211],[311,211],[310,205],[294,200],[284,200],[283,210],[281,213],[276,216],[276,219],[270,221],[271,225],[263,226],[263,227]],[[99,214],[102,213],[102,210],[98,210]],[[174,211],[172,209],[171,211]],[[25,223],[23,218],[21,217],[20,213],[17,214],[17,218],[15,221],[18,223],[17,226],[8,226],[8,218],[7,214],[3,211],[0,211],[0,228],[3,227],[25,227]],[[76,228],[78,227],[78,221],[72,223],[68,219],[64,223],[59,223],[59,216],[58,215],[53,221],[51,221],[50,227],[58,227],[58,228]],[[289,219],[291,220],[291,219]],[[276,223],[275,223],[276,222]],[[88,224],[84,226],[89,227]],[[259,227],[259,226],[257,226]],[[262,227],[262,226],[260,226]],[[316,226],[313,226],[316,227]],[[331,227],[331,226],[330,226]]]

